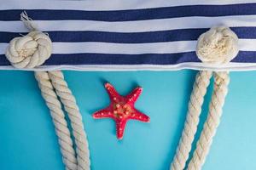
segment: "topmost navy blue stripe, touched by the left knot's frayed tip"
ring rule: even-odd
[[[27,9],[33,20],[128,21],[177,18],[186,16],[226,16],[256,14],[256,3],[229,5],[189,5],[112,11]],[[0,20],[20,20],[23,9],[0,11]]]

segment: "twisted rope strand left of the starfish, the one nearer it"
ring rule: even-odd
[[[78,169],[89,170],[90,151],[79,106],[76,104],[76,99],[74,98],[71,90],[67,87],[67,82],[64,80],[62,72],[49,71],[48,74],[49,79],[55,88],[56,94],[60,97],[61,102],[67,111],[67,115],[71,120],[73,136],[76,144]]]

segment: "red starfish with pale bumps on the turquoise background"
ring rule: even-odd
[[[134,104],[139,95],[142,94],[143,88],[135,88],[131,94],[126,96],[118,94],[110,83],[106,83],[105,88],[108,91],[111,103],[107,108],[96,111],[93,117],[96,119],[112,118],[116,122],[116,135],[118,139],[123,139],[125,124],[129,119],[149,122],[147,115],[134,108]]]

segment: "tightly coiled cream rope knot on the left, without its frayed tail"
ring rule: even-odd
[[[9,42],[6,57],[16,68],[34,68],[44,64],[52,51],[50,38],[40,31],[32,31],[24,37]]]

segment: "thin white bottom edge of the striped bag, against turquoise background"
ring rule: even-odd
[[[177,65],[42,65],[23,71],[178,71],[182,69],[206,71],[253,71],[255,63],[229,63],[223,66],[206,65],[204,63],[181,63]],[[19,70],[13,66],[0,66],[0,70]]]

